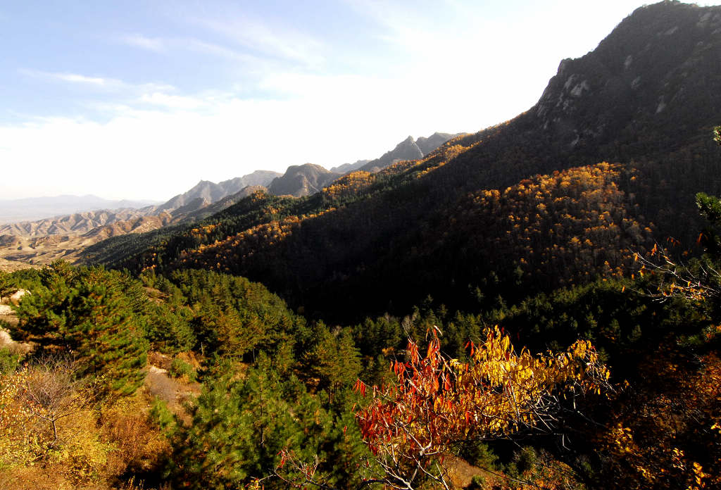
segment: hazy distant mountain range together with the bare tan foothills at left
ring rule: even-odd
[[[395,161],[417,158],[424,151],[433,151],[449,136],[435,133],[417,141],[409,137],[373,160],[371,170],[377,172]],[[6,213],[6,223],[0,221],[0,267],[12,269],[21,263],[47,264],[56,259],[74,261],[81,249],[99,241],[203,220],[255,192],[311,195],[370,162],[359,160],[334,167],[333,171],[314,164],[290,166],[285,174],[257,170],[217,184],[201,180],[162,204],[110,201],[92,195],[0,201],[0,218],[3,210]]]

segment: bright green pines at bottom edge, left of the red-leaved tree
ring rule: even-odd
[[[297,378],[281,380],[264,355],[243,380],[226,374],[207,386],[175,458],[182,486],[244,488],[272,475],[283,450],[322,454],[332,419]],[[273,481],[265,488],[275,488]]]

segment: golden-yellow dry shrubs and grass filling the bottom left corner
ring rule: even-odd
[[[149,418],[147,396],[98,408],[68,362],[36,363],[0,379],[2,386],[1,490],[141,490],[121,477],[158,470],[171,451]]]

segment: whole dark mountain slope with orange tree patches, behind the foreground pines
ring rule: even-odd
[[[359,306],[366,313],[407,308],[427,293],[457,304],[469,298],[469,285],[523,295],[538,278],[562,284],[614,273],[629,246],[643,250],[654,226],[659,240],[695,238],[694,193],[721,193],[721,155],[711,141],[721,114],[720,63],[721,7],[645,6],[596,50],[563,61],[538,104],[508,123],[376,174],[353,172],[298,202],[255,195],[195,231],[156,236],[146,241],[156,246],[139,254],[125,249],[132,257],[102,247],[95,257],[138,268],[228,270],[324,315],[329,308],[346,314]],[[414,151],[410,141],[404,145]],[[600,161],[622,166],[599,169],[603,178],[587,179],[591,187],[580,177],[569,177],[565,189],[563,179],[554,180],[554,172],[567,176],[563,171],[572,168],[594,174],[583,169]],[[541,182],[558,189],[544,197]],[[511,194],[504,191],[509,186]],[[539,188],[538,199],[528,186]],[[497,198],[469,208],[469,193],[479,192]],[[526,204],[505,208],[513,192]],[[580,195],[590,196],[581,208],[552,215],[561,230],[536,208]],[[498,209],[515,213],[513,226]],[[585,228],[601,226],[601,218],[583,209],[604,216],[608,229],[588,235]],[[565,219],[573,235],[560,238]],[[524,231],[536,222],[544,239]],[[546,248],[554,252],[536,259]],[[596,262],[611,251],[618,257]],[[571,279],[559,275],[563,264]]]

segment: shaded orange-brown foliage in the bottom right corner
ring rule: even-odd
[[[640,364],[598,434],[606,475],[626,489],[721,486],[721,360],[663,347]]]

